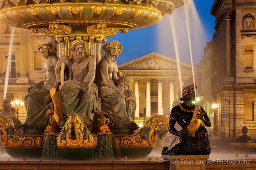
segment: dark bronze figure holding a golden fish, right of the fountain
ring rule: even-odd
[[[175,123],[177,122],[182,128],[188,127],[188,125],[190,125],[191,123],[190,121],[192,120],[194,109],[199,110],[199,113],[197,114],[197,119],[202,120],[202,125],[206,125],[208,127],[212,125],[204,109],[201,107],[200,111],[200,108],[196,108],[196,106],[192,103],[193,101],[195,101],[195,91],[193,84],[183,89],[182,98],[180,98],[180,100],[183,102],[173,107],[170,113],[170,133],[179,136],[180,132],[175,129]],[[198,105],[198,107],[200,106]],[[203,152],[210,154],[211,148],[209,134],[206,128],[202,125],[200,125],[200,127],[194,133],[192,133],[189,141],[196,145],[196,147],[201,149]]]

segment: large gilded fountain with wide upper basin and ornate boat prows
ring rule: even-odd
[[[0,2],[0,20],[12,27],[30,29],[32,33],[40,31],[46,36],[54,37],[55,43],[58,44],[57,56],[59,59],[72,57],[74,44],[82,42],[86,56],[95,57],[94,66],[96,66],[102,58],[101,45],[106,43],[106,37],[115,35],[119,31],[127,33],[130,29],[156,24],[162,20],[165,14],[172,14],[174,8],[184,4],[184,0],[2,0]],[[116,45],[118,46],[116,54],[120,54],[122,45],[121,48],[118,44]],[[108,45],[107,48],[109,48]],[[65,63],[59,64],[61,65],[59,66],[62,89]],[[118,77],[126,83],[126,78],[122,76],[122,73],[118,74]],[[40,129],[35,129],[32,132],[22,130],[20,133],[16,121],[0,116],[1,142],[8,154],[13,157],[40,157],[43,146],[47,150],[50,144],[55,145],[51,141],[48,141],[49,145],[45,145],[48,137],[53,137],[61,156],[86,159],[92,154],[95,155],[97,150],[103,149],[99,146],[106,147],[100,145],[102,141],[111,142],[109,137],[112,133],[109,129],[105,128],[105,131],[102,132],[100,128],[106,126],[104,116],[97,119],[98,121],[96,120],[96,124],[104,120],[98,127],[98,131],[95,131],[96,133],[92,133],[80,115],[76,113],[70,114],[63,123],[63,103],[60,93],[61,90],[57,89],[56,91],[56,88],[50,90],[54,111],[52,110],[50,113],[52,117],[44,136]],[[100,100],[96,102],[100,103]],[[103,115],[102,113],[100,115]],[[132,116],[129,119],[131,122],[133,121]],[[61,129],[58,130],[59,126]],[[116,157],[132,158],[134,155],[144,157],[155,146],[156,137],[164,139],[167,132],[168,120],[166,117],[161,115],[150,117],[140,129],[129,128],[125,132],[117,131],[113,134],[115,138],[113,140],[114,154]],[[102,136],[105,137],[102,138]],[[43,152],[43,155],[45,153]]]

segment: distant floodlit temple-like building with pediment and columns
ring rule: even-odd
[[[192,77],[192,66],[180,62],[180,70],[183,89],[183,85],[192,84],[188,81]],[[153,52],[118,65],[118,71],[130,78],[130,88],[136,93],[136,117],[166,116],[173,101],[181,98],[176,59]]]

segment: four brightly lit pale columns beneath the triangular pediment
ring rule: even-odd
[[[162,78],[158,78],[158,114],[164,115],[163,113],[163,94],[162,94]],[[172,109],[172,103],[174,102],[174,79],[169,79],[170,81],[170,111]],[[135,117],[139,117],[139,82],[140,78],[134,78],[135,84],[135,94],[136,94],[136,110]],[[151,78],[146,78],[146,117],[151,116],[151,93],[150,93],[150,82]]]

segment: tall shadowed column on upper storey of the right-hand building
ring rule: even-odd
[[[225,73],[228,76],[231,76],[231,37],[230,37],[230,16],[232,11],[224,11],[225,15],[225,42],[226,42],[226,65]]]

